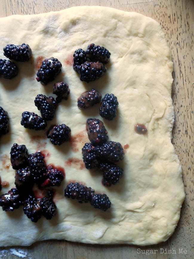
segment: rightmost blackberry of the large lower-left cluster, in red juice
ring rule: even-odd
[[[41,184],[45,186],[59,186],[64,179],[64,174],[57,169],[54,169],[52,165],[47,166],[47,179]]]

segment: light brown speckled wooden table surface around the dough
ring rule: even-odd
[[[165,243],[154,246],[102,246],[52,240],[37,242],[30,247],[1,248],[0,257],[32,259],[193,258],[194,2],[193,0],[0,0],[0,17],[14,14],[46,13],[78,5],[102,5],[125,11],[135,11],[158,21],[166,34],[174,62],[173,144],[182,164],[186,192],[181,218],[172,237]],[[147,251],[147,255],[144,253],[146,250],[150,250]]]

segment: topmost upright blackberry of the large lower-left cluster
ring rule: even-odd
[[[14,143],[10,151],[10,161],[13,169],[18,170],[27,164],[28,150],[25,145]]]

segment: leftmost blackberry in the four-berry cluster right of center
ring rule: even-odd
[[[91,143],[85,143],[81,151],[87,169],[98,167],[96,148]]]

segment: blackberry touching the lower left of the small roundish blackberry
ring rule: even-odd
[[[55,109],[57,107],[57,102],[52,96],[45,96],[43,94],[38,94],[34,100],[34,103],[41,113],[44,120],[52,120],[55,114]]]

